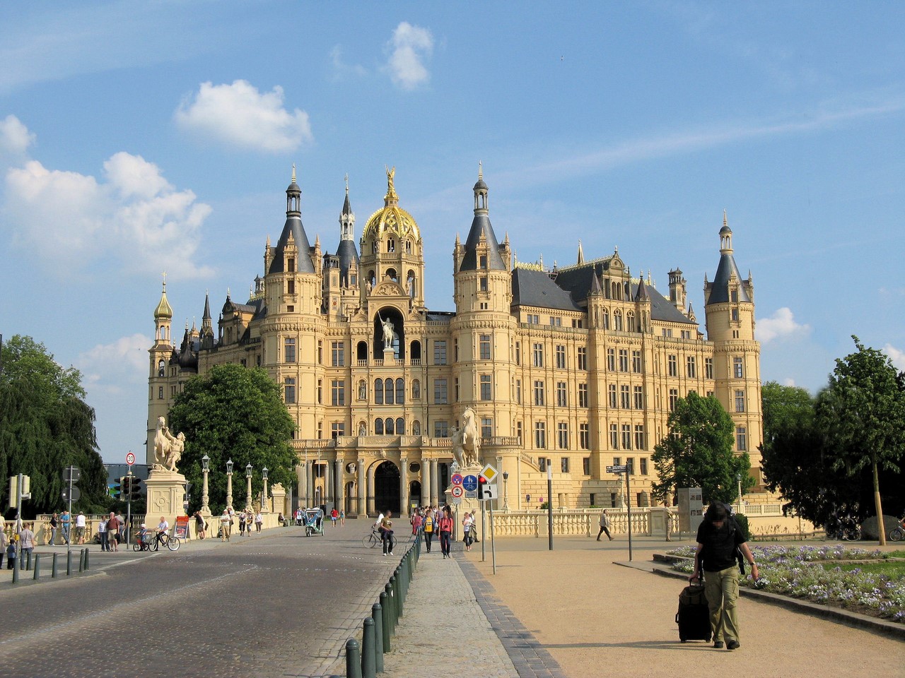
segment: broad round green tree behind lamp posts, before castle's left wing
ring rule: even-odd
[[[186,435],[180,473],[193,487],[190,509],[201,506],[202,457],[210,459],[209,505],[226,503],[226,462],[232,459],[233,504],[244,505],[245,466],[251,464],[252,497],[262,491],[262,469],[268,484],[289,488],[296,483],[296,455],[290,440],[295,424],[281,398],[280,387],[261,368],[217,365],[204,377],[186,382],[169,411],[169,428]]]

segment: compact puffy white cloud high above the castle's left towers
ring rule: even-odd
[[[201,83],[176,108],[176,124],[218,141],[269,153],[292,151],[311,141],[308,113],[283,108],[283,90],[259,92],[246,80],[232,85]]]

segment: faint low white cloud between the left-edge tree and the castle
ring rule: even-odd
[[[79,353],[75,366],[84,377],[85,390],[131,393],[133,384],[148,379],[148,346],[153,343],[145,334],[132,334]]]

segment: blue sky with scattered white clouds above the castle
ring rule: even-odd
[[[0,333],[84,374],[101,454],[139,452],[153,310],[243,297],[298,167],[310,240],[356,238],[385,165],[427,302],[479,161],[546,266],[618,247],[703,319],[726,210],[764,381],[821,388],[851,334],[905,369],[905,5],[0,4]],[[176,329],[174,329],[176,334]],[[181,334],[181,329],[180,329]]]

